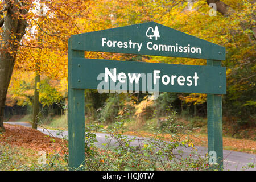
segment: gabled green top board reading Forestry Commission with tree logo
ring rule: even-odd
[[[225,47],[155,22],[71,36],[72,49],[225,60]]]

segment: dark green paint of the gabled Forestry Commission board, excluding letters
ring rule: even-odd
[[[160,37],[157,40],[155,40],[154,37],[149,39],[146,36],[146,31],[148,27],[155,28],[155,26],[158,26]],[[142,48],[138,51],[138,49],[118,48],[118,46],[102,47],[102,38],[107,38],[107,40],[120,40],[122,42],[129,42],[129,40],[131,40],[132,42],[142,43]],[[206,40],[196,38],[195,36],[185,34],[155,22],[134,24],[131,26],[72,35],[72,39],[73,50],[225,60],[225,47],[210,43]],[[149,51],[146,47],[147,42],[175,46],[176,43],[178,43],[179,46],[187,46],[190,44],[190,47],[200,47],[201,54],[197,55],[196,53],[165,52],[155,50]]]

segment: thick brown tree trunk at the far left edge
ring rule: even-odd
[[[21,14],[27,13],[26,9],[19,9],[20,6],[24,5],[24,2],[6,0],[3,3],[5,3],[6,8],[4,10],[7,13],[0,20],[2,22],[0,26],[4,25],[0,36],[2,41],[0,44],[0,131],[5,131],[3,114],[6,94],[13,73],[18,45],[27,27],[26,20],[20,18]]]

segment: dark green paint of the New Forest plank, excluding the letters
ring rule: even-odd
[[[159,79],[159,92],[181,92],[181,93],[226,93],[226,69],[224,67],[209,67],[198,65],[180,65],[180,64],[164,64],[164,63],[144,63],[137,61],[113,61],[113,60],[96,60],[96,59],[73,59],[72,67],[72,88],[78,89],[97,89],[98,84],[102,80],[97,80],[100,73],[105,73],[105,67],[109,70],[117,68],[118,73],[151,73],[154,70],[160,70],[159,76],[163,75],[170,77],[170,83],[162,84]],[[191,85],[180,86],[177,84],[177,78],[174,80],[174,85],[171,85],[171,75],[177,77],[183,75],[194,76],[195,72],[199,79],[197,86]],[[127,76],[128,78],[128,76]],[[110,80],[110,79],[109,79]],[[142,80],[142,79],[141,79]],[[140,80],[140,89],[142,91],[142,83]],[[152,79],[151,79],[152,80]],[[193,79],[192,79],[193,80]],[[119,82],[119,81],[117,81]],[[117,82],[115,84],[117,84]],[[126,80],[127,83],[127,80]],[[127,86],[128,88],[128,86]],[[151,88],[151,87],[150,87]],[[153,87],[154,88],[154,87]],[[143,90],[148,91],[148,90]]]

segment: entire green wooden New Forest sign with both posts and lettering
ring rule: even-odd
[[[68,52],[69,166],[85,162],[84,89],[100,93],[180,92],[207,95],[208,152],[223,166],[222,94],[226,94],[225,47],[155,22],[72,35]],[[181,65],[86,59],[84,51],[207,59]],[[215,153],[214,153],[215,154]]]

